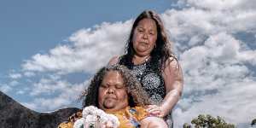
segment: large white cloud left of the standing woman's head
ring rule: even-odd
[[[128,20],[79,30],[69,38],[73,45],[59,45],[50,49],[49,54],[33,55],[22,67],[39,72],[94,72],[107,64],[111,56],[122,54],[130,27],[131,20]]]

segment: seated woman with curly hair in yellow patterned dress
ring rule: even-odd
[[[150,115],[144,108],[151,103],[148,95],[124,66],[113,65],[100,69],[91,80],[84,97],[83,107],[95,106],[112,113],[119,119],[121,128],[167,127],[164,119]],[[81,113],[73,115],[59,128],[73,127],[73,122],[81,116]]]

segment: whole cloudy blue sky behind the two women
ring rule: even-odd
[[[81,90],[124,53],[134,18],[160,14],[183,67],[176,127],[200,113],[255,118],[256,3],[250,0],[1,1],[0,90],[36,111],[80,107]]]

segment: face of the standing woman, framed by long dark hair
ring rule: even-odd
[[[156,39],[157,27],[154,20],[149,18],[140,20],[132,38],[133,49],[135,49],[136,55],[150,55],[154,49]]]

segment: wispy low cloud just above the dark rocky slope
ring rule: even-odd
[[[51,84],[49,84],[51,83]],[[82,90],[86,87],[87,81],[81,84],[70,84],[67,81],[51,81],[41,79],[40,83],[32,87],[31,95],[35,98],[32,102],[22,102],[27,108],[37,111],[53,111],[63,107],[74,107],[72,103],[79,99]],[[58,91],[58,93],[55,93]],[[55,96],[51,96],[55,94]],[[42,95],[49,95],[44,97]]]

